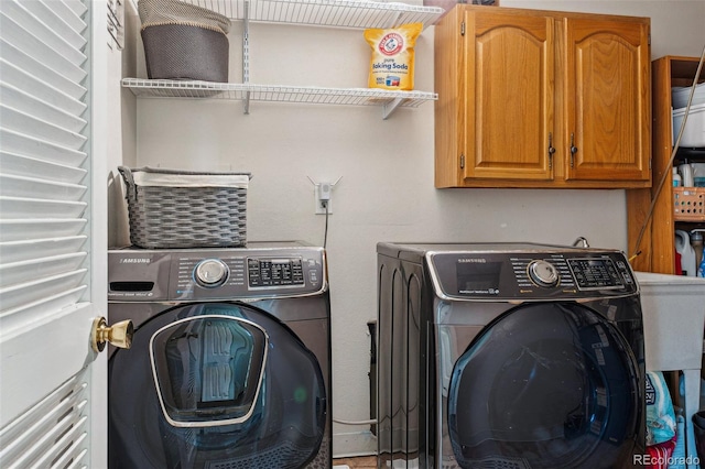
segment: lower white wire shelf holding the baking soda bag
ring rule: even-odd
[[[138,98],[208,98],[242,101],[305,102],[318,105],[381,106],[384,118],[398,107],[416,108],[438,95],[426,91],[389,91],[372,88],[322,88],[213,81],[123,78],[122,86]]]

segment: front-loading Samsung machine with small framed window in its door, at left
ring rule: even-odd
[[[323,248],[108,252],[108,457],[119,468],[330,468]]]

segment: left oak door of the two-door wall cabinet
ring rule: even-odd
[[[552,179],[552,18],[466,13],[463,177]]]

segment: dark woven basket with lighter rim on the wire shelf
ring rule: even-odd
[[[178,0],[140,0],[138,11],[149,78],[228,81],[228,18]]]

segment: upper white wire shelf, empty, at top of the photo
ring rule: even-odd
[[[444,10],[398,2],[367,0],[183,0],[231,20],[316,24],[336,28],[393,28],[433,24]]]

